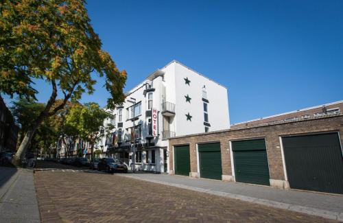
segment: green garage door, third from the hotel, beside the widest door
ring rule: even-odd
[[[232,147],[236,181],[270,185],[265,140],[233,141]]]

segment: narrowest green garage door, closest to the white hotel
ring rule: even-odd
[[[189,157],[189,145],[174,146],[175,174],[189,176],[191,161]]]

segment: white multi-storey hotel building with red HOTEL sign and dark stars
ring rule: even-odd
[[[227,89],[175,60],[111,112],[114,119],[107,121],[115,130],[99,146],[131,168],[134,159],[137,170],[151,172],[168,172],[169,137],[230,128]]]

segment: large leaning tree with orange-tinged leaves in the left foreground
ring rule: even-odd
[[[106,78],[108,108],[123,102],[126,71],[119,71],[102,50],[84,0],[3,0],[0,4],[0,93],[36,99],[34,82],[45,80],[51,95],[29,124],[14,156],[19,165],[34,132],[45,117],[82,93],[93,93],[94,75]],[[58,92],[62,103],[54,106]]]

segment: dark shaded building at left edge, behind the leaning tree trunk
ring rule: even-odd
[[[16,150],[19,127],[14,123],[14,118],[0,95],[0,152]]]

